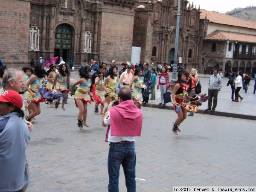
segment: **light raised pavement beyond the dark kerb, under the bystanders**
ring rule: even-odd
[[[172,73],[170,73],[172,79]],[[199,81],[202,85],[202,93],[208,94],[208,82],[210,75],[198,74]],[[253,86],[254,86],[254,79],[251,80],[251,84],[248,87],[247,93],[244,93],[244,90],[240,90],[239,94],[244,97],[242,102],[232,102],[231,100],[231,87],[227,87],[227,77],[222,78],[222,89],[218,93],[218,104],[217,108],[214,112],[212,111],[204,111],[207,108],[208,101],[204,102],[203,105],[199,106],[198,113],[204,114],[212,114],[218,116],[228,116],[228,117],[235,117],[241,119],[253,119],[256,120],[256,94],[253,94]],[[160,102],[160,89],[157,91],[157,87],[155,88],[157,99],[155,101],[149,100],[148,104],[143,106],[145,107],[153,107],[153,108],[164,108],[164,109],[173,109],[172,103],[167,103],[165,107],[158,106]],[[240,99],[239,99],[240,101]],[[196,115],[196,114],[195,114]],[[195,116],[194,115],[194,116]]]

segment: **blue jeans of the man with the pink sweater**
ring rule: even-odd
[[[118,192],[120,166],[124,169],[127,192],[136,192],[134,143],[110,145],[108,151],[108,191]]]

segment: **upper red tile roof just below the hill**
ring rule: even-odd
[[[238,19],[236,17],[232,17],[230,15],[214,11],[210,12],[204,9],[201,9],[200,12],[200,19],[205,19],[205,15],[207,14],[207,19],[212,23],[256,29],[255,24]]]

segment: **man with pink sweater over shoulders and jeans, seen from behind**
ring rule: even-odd
[[[128,192],[136,191],[135,181],[135,137],[142,129],[142,111],[131,100],[131,90],[121,87],[118,92],[119,104],[108,105],[108,111],[102,117],[102,125],[108,126],[106,142],[110,142],[108,153],[108,191],[118,192],[120,166],[124,169],[125,185]]]

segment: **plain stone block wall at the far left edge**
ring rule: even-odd
[[[29,3],[0,0],[0,59],[8,66],[28,63]]]

